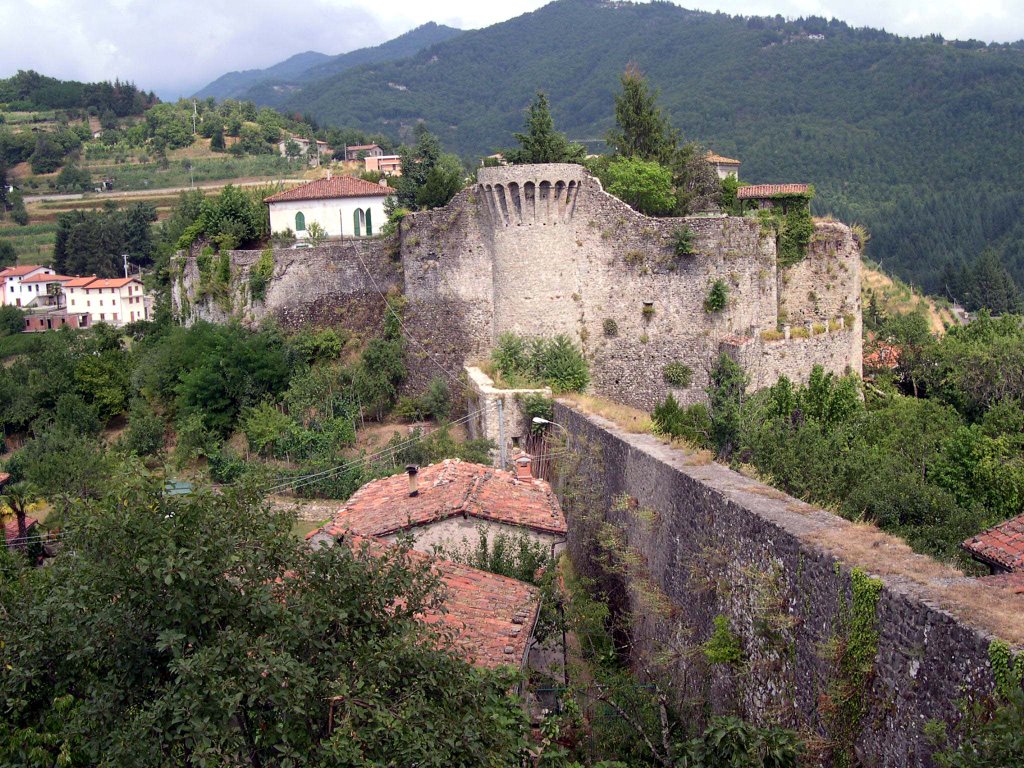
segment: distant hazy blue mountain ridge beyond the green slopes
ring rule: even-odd
[[[462,30],[431,22],[371,48],[335,56],[306,51],[265,70],[230,72],[214,80],[196,96],[251,99],[261,105],[280,106],[300,84],[337,76],[353,67],[406,58],[461,34]]]

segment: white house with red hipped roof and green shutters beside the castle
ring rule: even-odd
[[[387,221],[384,201],[390,194],[385,184],[328,175],[263,202],[270,209],[270,231],[292,229],[301,240],[309,236],[309,225],[315,221],[331,238],[366,238],[376,234]]]

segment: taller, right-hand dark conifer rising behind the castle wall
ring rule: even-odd
[[[679,133],[657,106],[657,93],[635,63],[620,82],[623,91],[615,95],[615,128],[607,134],[608,145],[624,158],[671,163]]]

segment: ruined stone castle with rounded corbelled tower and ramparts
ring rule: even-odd
[[[691,253],[677,255],[685,229]],[[807,257],[780,268],[774,233],[757,218],[649,218],[578,165],[481,168],[444,208],[407,216],[397,249],[377,239],[275,251],[265,299],[251,302],[246,275],[258,255],[231,254],[230,305],[250,322],[369,328],[381,294],[400,291],[417,340],[414,389],[435,364],[459,371],[485,356],[505,332],[567,334],[586,351],[596,393],[644,409],[669,391],[700,399],[722,351],[752,388],[806,379],[815,365],[861,371],[860,250],[849,227],[817,223]],[[225,319],[222,304],[196,301],[199,278],[196,259],[183,259],[177,311]],[[728,298],[708,311],[716,282]],[[688,386],[666,382],[671,362],[691,370]]]

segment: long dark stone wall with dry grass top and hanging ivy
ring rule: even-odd
[[[563,404],[555,421],[571,451],[556,485],[572,561],[687,716],[785,724],[815,765],[924,768],[927,731],[991,700],[992,659],[1013,650],[955,611],[998,598],[1021,615],[1024,596],[865,544],[863,527],[702,455]],[[956,589],[973,592],[957,603]]]

